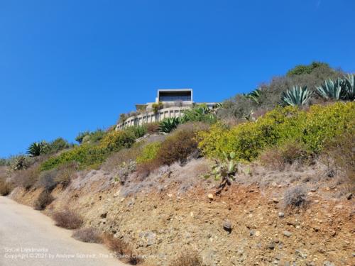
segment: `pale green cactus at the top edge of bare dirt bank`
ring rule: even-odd
[[[216,162],[212,167],[211,174],[205,174],[204,178],[208,179],[209,177],[214,177],[215,180],[221,180],[216,194],[222,192],[226,185],[231,185],[231,182],[236,179],[236,172],[238,172],[238,164],[234,160],[236,158],[236,153],[224,153],[224,161]]]

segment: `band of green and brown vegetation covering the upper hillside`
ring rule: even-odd
[[[132,171],[148,174],[161,165],[184,164],[190,157],[206,156],[217,160],[211,175],[230,184],[236,162],[258,159],[273,163],[273,157],[285,165],[320,156],[325,147],[337,150],[332,140],[354,135],[354,79],[354,74],[344,75],[326,63],[299,65],[284,77],[275,77],[212,109],[196,105],[183,111],[180,118],[160,123],[121,131],[84,131],[75,138],[79,145],[62,138],[35,142],[28,147],[28,155],[1,159],[0,165],[13,172],[15,186],[39,186],[50,192],[58,184],[66,187],[77,170],[88,167],[121,167],[120,179],[124,180]],[[157,111],[161,106],[155,106]],[[147,133],[168,137],[146,143],[143,137]],[[337,154],[341,156],[339,149]],[[112,163],[116,165],[109,167]],[[2,180],[7,193],[13,186],[5,186]],[[43,192],[39,209],[50,202],[47,196]]]

